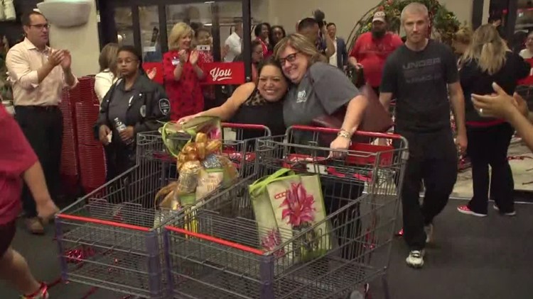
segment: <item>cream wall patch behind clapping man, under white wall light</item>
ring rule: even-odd
[[[75,28],[50,28],[50,46],[69,50],[72,55],[72,72],[77,77],[96,74],[99,70],[99,38],[96,1],[92,1],[89,21]]]

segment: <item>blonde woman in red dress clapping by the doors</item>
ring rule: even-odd
[[[198,51],[191,49],[193,29],[177,23],[168,37],[168,52],[163,55],[163,79],[171,102],[171,120],[203,111],[200,81],[205,75]]]

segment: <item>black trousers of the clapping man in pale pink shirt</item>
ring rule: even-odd
[[[50,196],[57,199],[60,195],[61,184],[63,115],[55,106],[15,106],[15,113],[18,125],[41,162]],[[26,217],[36,217],[36,203],[26,185],[24,185],[21,198]]]

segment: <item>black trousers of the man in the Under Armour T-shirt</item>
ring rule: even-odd
[[[426,247],[429,225],[448,203],[457,179],[457,150],[451,130],[397,132],[409,142],[409,160],[402,188],[404,239],[410,250]],[[421,182],[426,193],[420,205]]]

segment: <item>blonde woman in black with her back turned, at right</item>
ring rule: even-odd
[[[495,82],[507,94],[513,94],[517,81],[529,74],[529,64],[511,52],[490,24],[480,26],[472,44],[463,55],[459,77],[465,98],[473,94],[492,94]],[[514,129],[502,118],[492,118],[483,109],[476,110],[472,101],[465,101],[468,156],[472,162],[473,198],[458,207],[464,214],[485,217],[488,198],[495,201],[494,209],[502,215],[515,215],[514,181],[507,162],[507,150]],[[492,169],[489,179],[488,167]]]

